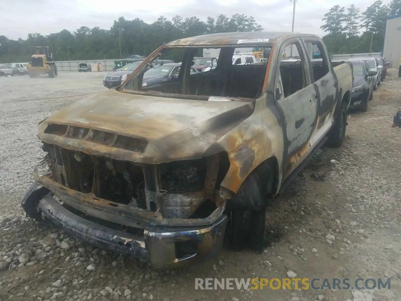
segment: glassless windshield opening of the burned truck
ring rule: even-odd
[[[256,99],[263,92],[267,61],[257,62],[253,49],[166,47],[155,59],[177,63],[149,62],[134,71],[122,92],[215,101]]]

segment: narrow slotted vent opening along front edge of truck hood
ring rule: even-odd
[[[94,143],[113,146],[115,148],[126,149],[138,153],[144,153],[146,146],[148,145],[148,141],[141,138],[128,137],[91,128],[67,126],[63,124],[49,123],[45,128],[45,134],[83,139]]]

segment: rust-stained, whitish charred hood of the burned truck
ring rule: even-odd
[[[39,125],[38,138],[70,150],[159,164],[201,159],[254,110],[249,101],[200,101],[110,90],[76,102]]]

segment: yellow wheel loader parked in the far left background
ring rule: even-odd
[[[41,74],[49,74],[49,77],[57,76],[57,66],[54,62],[53,55],[49,55],[49,47],[34,46],[32,47],[34,54],[31,57],[28,69],[30,77],[36,77]]]

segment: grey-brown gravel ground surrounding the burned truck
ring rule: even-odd
[[[20,199],[42,158],[37,123],[105,89],[105,73],[0,78],[0,300],[401,300],[401,79],[390,70],[351,112],[344,146],[322,149],[267,214],[262,254],[222,250],[188,268],[160,271],[25,217]],[[196,277],[391,278],[391,290],[194,290]]]

